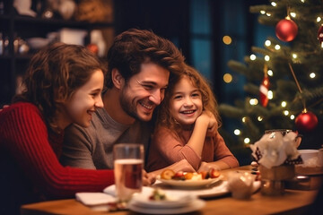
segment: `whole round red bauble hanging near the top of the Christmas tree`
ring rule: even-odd
[[[291,19],[286,18],[276,24],[275,34],[278,39],[284,42],[290,42],[295,39],[298,33],[298,27]]]

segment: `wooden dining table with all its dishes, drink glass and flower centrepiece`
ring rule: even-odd
[[[312,168],[307,166],[306,157],[303,162],[302,153],[297,150],[300,143],[298,133],[290,130],[266,132],[250,146],[255,160],[248,166],[200,173],[165,169],[150,186],[143,185],[140,174],[144,168],[143,146],[118,144],[114,149],[115,185],[98,193],[76,193],[70,200],[23,205],[22,215],[33,211],[71,215],[109,214],[111,211],[116,215],[199,211],[208,215],[214,214],[214,210],[218,214],[232,214],[241,207],[246,213],[257,215],[304,212],[318,192],[323,173],[311,173],[311,176],[317,176],[315,183],[312,183],[312,177],[306,179],[309,175],[304,173]],[[314,157],[320,160],[319,153],[314,153]],[[315,168],[322,168],[318,166],[320,163],[316,164]],[[306,171],[300,173],[298,167]]]

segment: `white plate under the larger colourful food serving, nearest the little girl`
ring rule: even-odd
[[[196,187],[203,187],[207,185],[212,185],[217,181],[220,181],[223,178],[223,176],[218,176],[216,178],[208,178],[203,180],[166,180],[162,178],[158,178],[162,183],[166,185],[171,185],[175,187],[181,187],[181,188],[196,188]]]

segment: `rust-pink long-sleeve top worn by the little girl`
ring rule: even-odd
[[[231,168],[239,166],[238,160],[225,145],[220,133],[216,133],[213,137],[205,137],[201,157],[186,144],[191,134],[192,131],[183,131],[179,135],[179,141],[168,128],[162,127],[158,129],[153,134],[153,141],[145,167],[146,170],[150,172],[166,168],[181,159],[187,159],[196,170],[202,161],[213,162],[222,160]]]

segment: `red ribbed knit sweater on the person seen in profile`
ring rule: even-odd
[[[6,159],[1,158],[1,166],[15,164],[17,168],[7,168],[8,172],[1,174],[25,176],[21,180],[25,186],[31,185],[33,192],[51,198],[70,198],[76,192],[101,192],[114,184],[113,170],[63,167],[57,159],[63,135],[48,134],[38,107],[31,103],[18,102],[4,108],[0,112],[0,151]]]

